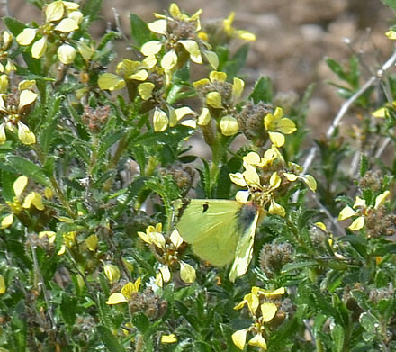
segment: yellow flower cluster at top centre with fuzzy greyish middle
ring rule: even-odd
[[[200,14],[198,10],[192,16],[183,14],[175,3],[169,6],[169,14],[156,14],[157,21],[148,23],[151,32],[159,34],[160,40],[148,41],[142,45],[140,51],[145,56],[157,55],[166,48],[160,65],[166,72],[172,71],[184,53],[197,64],[202,64],[202,54],[208,59],[212,67],[217,68],[219,59],[217,55],[207,50],[205,43],[198,37],[197,32],[201,30]],[[183,28],[183,31],[181,30]],[[207,46],[207,44],[206,44]],[[181,63],[183,65],[184,62]]]

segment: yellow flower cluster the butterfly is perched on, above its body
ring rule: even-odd
[[[250,152],[243,158],[245,171],[230,174],[231,181],[246,191],[238,191],[236,199],[239,202],[251,201],[267,209],[270,214],[284,216],[284,207],[275,199],[297,180],[302,180],[311,191],[316,190],[316,181],[311,175],[301,175],[302,167],[296,164],[286,164],[279,150],[273,145],[260,157],[256,152]]]

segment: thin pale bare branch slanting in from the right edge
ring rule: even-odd
[[[381,80],[383,77],[383,73],[386,70],[388,70],[389,68],[391,68],[395,62],[396,62],[396,50],[393,51],[392,56],[385,61],[383,66],[377,70],[376,74],[374,76],[370,77],[365,82],[364,86],[361,86],[360,89],[354,95],[352,95],[346,102],[344,102],[344,104],[341,105],[341,108],[339,109],[338,114],[334,118],[333,123],[329,127],[329,130],[326,132],[327,138],[330,138],[333,135],[334,131],[338,128],[339,123],[341,122],[341,120],[343,119],[343,117],[345,116],[345,114],[347,113],[349,108],[356,102],[356,100],[361,95],[365,94],[365,91],[368,88],[370,88],[371,86],[373,86],[375,82],[377,82],[378,80]],[[314,158],[316,157],[317,153],[318,153],[318,147],[313,146],[310,149],[308,157],[305,159],[305,162],[302,166],[303,173],[306,173],[308,171],[308,169],[311,167],[311,164],[312,164]]]

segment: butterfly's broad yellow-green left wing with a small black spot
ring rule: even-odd
[[[238,245],[238,212],[243,203],[220,199],[193,199],[176,225],[193,252],[213,266],[235,258]]]

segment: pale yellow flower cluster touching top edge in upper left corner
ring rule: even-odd
[[[31,45],[31,56],[40,59],[49,42],[58,43],[58,59],[70,64],[76,57],[76,49],[70,45],[68,36],[75,32],[83,21],[79,5],[70,1],[58,0],[45,6],[45,23],[38,28],[25,28],[16,37],[18,44]]]

